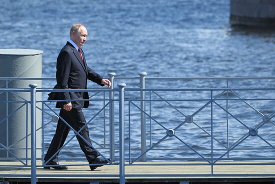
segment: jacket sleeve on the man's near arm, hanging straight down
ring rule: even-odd
[[[68,78],[70,72],[71,57],[68,52],[62,51],[57,57],[56,63],[56,82],[58,89],[68,89]],[[69,92],[60,93],[60,99],[68,100],[65,104],[70,102]]]

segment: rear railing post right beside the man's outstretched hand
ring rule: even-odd
[[[115,73],[108,73],[109,81],[111,82],[110,89],[113,89],[113,79]],[[113,92],[109,92],[109,99],[111,100],[109,104],[109,139],[110,139],[110,159],[114,161],[114,101]]]

